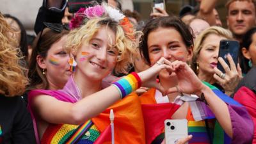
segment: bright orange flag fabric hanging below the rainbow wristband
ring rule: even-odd
[[[115,143],[119,144],[144,144],[145,127],[141,110],[140,99],[135,93],[127,95],[125,99],[119,100],[111,107],[92,118],[93,124],[97,126],[100,133],[101,143],[111,143],[111,132],[109,129],[109,112],[113,109],[115,113]],[[109,138],[110,136],[110,138]],[[102,138],[103,137],[103,138]],[[105,138],[104,138],[105,137]]]

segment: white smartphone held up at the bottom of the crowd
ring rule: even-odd
[[[165,120],[164,134],[166,144],[175,144],[179,139],[188,136],[188,120]]]

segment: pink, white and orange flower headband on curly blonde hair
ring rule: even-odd
[[[119,10],[112,8],[106,4],[104,5],[95,5],[88,8],[80,8],[70,21],[69,27],[70,29],[79,28],[79,26],[83,25],[86,22],[86,19],[92,19],[93,17],[102,17],[108,16],[111,19],[115,20],[122,26],[124,29],[125,35],[127,35],[132,40],[134,36],[131,33],[134,31],[133,25],[131,24],[130,20],[125,17]]]

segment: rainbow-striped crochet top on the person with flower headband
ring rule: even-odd
[[[41,144],[58,143],[62,144],[74,133],[79,125],[68,124],[50,124],[41,140]],[[100,132],[93,124],[89,131],[86,132],[82,138],[77,142],[78,144],[91,144],[97,140],[100,136]],[[71,139],[70,139],[71,140]]]

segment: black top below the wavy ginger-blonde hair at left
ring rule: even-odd
[[[0,143],[36,143],[31,116],[22,97],[0,95]]]

